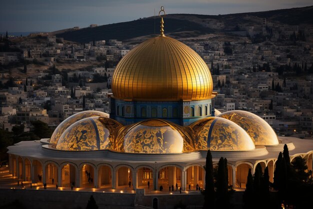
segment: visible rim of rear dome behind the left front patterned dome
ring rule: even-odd
[[[104,112],[100,111],[94,111],[94,110],[88,110],[88,111],[82,111],[78,112],[76,114],[73,114],[63,120],[53,131],[52,136],[50,137],[50,143],[51,144],[56,144],[62,133],[65,131],[66,128],[68,128],[71,124],[74,122],[81,120],[83,118],[88,118],[88,117],[94,117],[94,116],[101,116],[101,117],[106,117],[108,118],[109,115]]]

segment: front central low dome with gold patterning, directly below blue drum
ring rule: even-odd
[[[130,153],[182,153],[194,151],[192,139],[183,127],[161,119],[148,119],[125,126],[114,150]]]

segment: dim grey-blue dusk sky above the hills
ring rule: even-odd
[[[158,14],[223,15],[311,6],[311,0],[9,0],[0,1],[0,32],[51,32],[127,22]]]

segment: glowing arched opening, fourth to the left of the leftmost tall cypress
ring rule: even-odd
[[[129,183],[130,182],[130,183]],[[119,167],[116,171],[116,188],[127,188],[132,190],[132,172],[129,167],[122,166]]]

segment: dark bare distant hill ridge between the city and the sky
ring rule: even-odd
[[[192,15],[192,14],[170,14],[164,18],[165,35],[178,32],[192,32],[194,36],[235,30],[235,26],[242,24],[259,24],[253,18],[266,18],[287,25],[313,24],[313,6],[304,8],[292,8],[284,10],[273,10],[255,13],[239,13],[229,15]],[[130,22],[116,23],[98,26],[94,28],[83,28],[74,31],[54,33],[56,37],[78,43],[90,41],[117,39],[128,40],[140,36],[159,34],[160,18],[154,17],[139,19]],[[155,23],[155,28],[154,28]],[[181,35],[183,36],[183,35]]]

